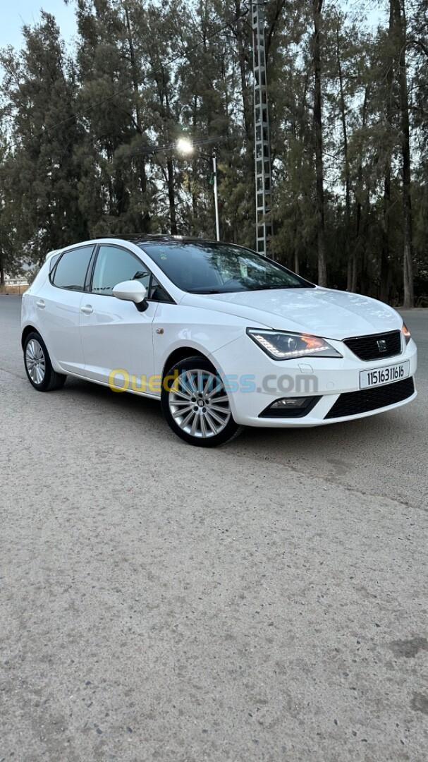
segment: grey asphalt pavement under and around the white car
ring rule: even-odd
[[[181,443],[157,403],[27,383],[0,297],[0,762],[426,760],[420,396]]]

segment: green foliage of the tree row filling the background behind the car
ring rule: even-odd
[[[340,8],[325,2],[321,17],[327,271],[333,286],[400,302],[402,28],[370,28],[363,3],[353,18]],[[41,261],[52,248],[109,232],[213,237],[214,144],[222,237],[254,246],[245,10],[241,0],[76,0],[71,56],[44,12],[24,28],[23,50],[2,51],[0,269],[13,272],[23,259]],[[272,254],[316,280],[311,4],[268,0],[266,11]],[[424,12],[422,0],[407,8],[406,32],[420,296],[428,292]],[[171,148],[183,133],[200,143],[187,158]]]

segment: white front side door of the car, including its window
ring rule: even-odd
[[[153,318],[156,304],[139,311],[133,302],[113,296],[123,280],[138,279],[149,290],[151,273],[123,246],[101,244],[95,255],[91,286],[82,300],[80,332],[85,376],[134,391],[154,393]]]

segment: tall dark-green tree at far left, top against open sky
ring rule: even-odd
[[[40,24],[24,27],[21,55],[8,50],[0,60],[13,146],[16,245],[37,261],[88,233],[78,205],[75,71],[53,16],[44,12]]]

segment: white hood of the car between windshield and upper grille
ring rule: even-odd
[[[181,304],[237,315],[248,320],[249,328],[253,322],[339,341],[350,336],[394,331],[402,325],[398,312],[387,304],[369,296],[321,287],[207,295],[187,293]]]

